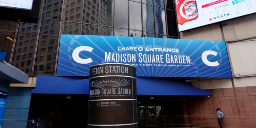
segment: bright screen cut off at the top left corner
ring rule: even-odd
[[[32,10],[33,0],[0,0],[0,7]]]

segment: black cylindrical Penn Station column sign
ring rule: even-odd
[[[138,128],[134,66],[90,67],[88,128]]]

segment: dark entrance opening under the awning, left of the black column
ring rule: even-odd
[[[32,94],[28,118],[44,128],[87,128],[88,95]]]

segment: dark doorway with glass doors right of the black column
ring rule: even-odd
[[[184,124],[184,99],[170,96],[138,96],[138,126],[165,126]]]

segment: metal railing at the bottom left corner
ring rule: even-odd
[[[36,128],[35,120],[0,119],[0,128]]]

